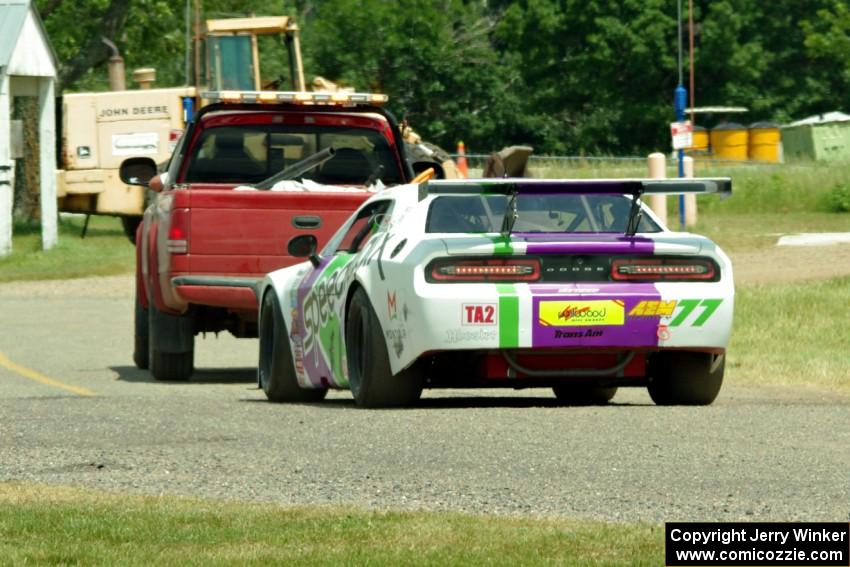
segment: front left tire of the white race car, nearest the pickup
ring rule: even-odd
[[[257,381],[270,402],[320,402],[328,393],[327,388],[298,385],[286,324],[274,292],[263,296]]]

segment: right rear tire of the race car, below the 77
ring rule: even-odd
[[[649,396],[659,406],[711,404],[723,384],[725,355],[663,352],[653,359]]]

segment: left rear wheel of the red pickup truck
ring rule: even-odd
[[[169,315],[150,302],[148,364],[157,380],[186,381],[195,365],[195,333],[191,315]]]

